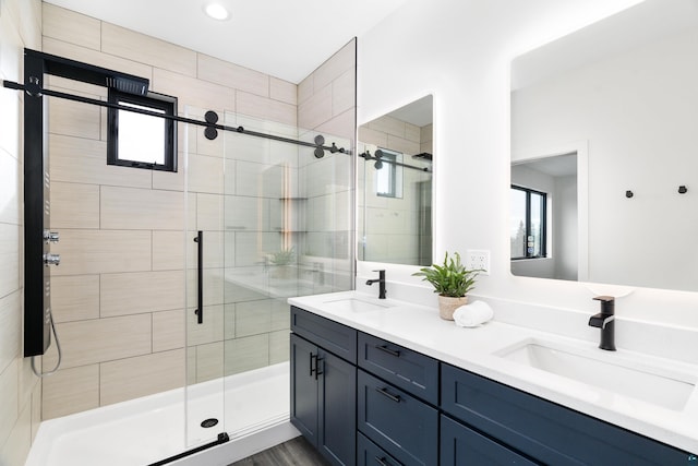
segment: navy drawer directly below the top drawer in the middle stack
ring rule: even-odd
[[[357,380],[357,426],[404,465],[435,465],[438,411],[362,370]]]

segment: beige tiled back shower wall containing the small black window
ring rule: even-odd
[[[232,110],[297,124],[292,83],[49,3],[43,4],[43,15],[44,51],[148,77],[152,91],[178,97],[180,115],[202,119],[208,109],[221,117]],[[97,86],[55,77],[50,85],[106,98]],[[56,99],[49,115],[51,227],[61,234],[53,250],[62,258],[52,271],[52,309],[63,361],[44,383],[44,419],[288,359],[288,307],[230,289],[222,276],[225,262],[258,262],[244,247],[245,234],[256,237],[262,222],[270,228],[268,217],[255,217],[258,205],[240,198],[245,190],[256,193],[256,187],[245,183],[268,172],[278,163],[274,157],[297,166],[298,153],[269,156],[286,153],[269,151],[268,143],[228,141],[256,152],[241,151],[242,159],[226,167],[225,138],[208,141],[201,128],[180,124],[177,174],[107,166],[104,110]],[[224,169],[238,176],[224,178]],[[274,183],[266,186],[270,190],[257,193],[265,212],[281,195]],[[239,220],[246,229],[238,238],[228,228],[233,225],[224,222],[227,210],[250,210]],[[193,282],[193,271],[184,270],[185,255],[190,267],[195,264],[195,244],[185,238],[185,227],[206,235],[206,319],[201,326],[193,322],[192,289],[184,302],[185,283]],[[278,232],[264,235],[278,241]],[[0,267],[16,262],[16,250],[2,241],[0,255],[8,259]],[[237,353],[224,356],[224,349]],[[197,363],[185,369],[188,360]],[[44,367],[55,361],[51,348]]]

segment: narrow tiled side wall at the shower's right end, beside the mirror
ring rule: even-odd
[[[356,140],[356,39],[349,41],[298,85],[298,123],[302,136],[353,151]],[[308,260],[322,264],[333,289],[353,285],[354,158],[300,152],[299,191],[306,198]]]

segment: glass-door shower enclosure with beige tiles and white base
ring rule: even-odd
[[[107,165],[107,88],[47,76],[63,354],[28,465],[165,464],[286,422],[286,300],[353,287],[356,44],[337,57],[304,87],[308,128],[216,109],[212,138],[210,108],[180,104],[176,172]]]

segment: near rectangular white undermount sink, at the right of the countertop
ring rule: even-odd
[[[683,410],[698,379],[698,374],[648,363],[639,355],[621,356],[538,338],[525,339],[494,355],[673,410]]]

